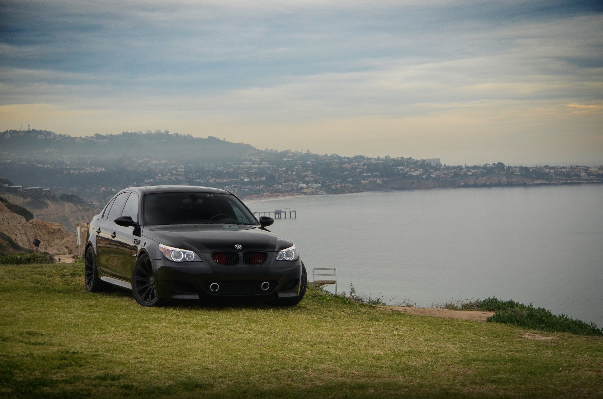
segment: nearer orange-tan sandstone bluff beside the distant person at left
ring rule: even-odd
[[[58,245],[69,236],[65,227],[60,223],[40,219],[26,221],[23,216],[11,212],[2,203],[0,203],[0,232],[6,234],[21,247],[33,248],[34,237],[37,237],[42,241],[41,251],[53,255],[68,253],[68,248]]]

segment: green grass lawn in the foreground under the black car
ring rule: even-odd
[[[388,312],[145,308],[81,265],[0,266],[0,397],[601,397],[603,339]]]

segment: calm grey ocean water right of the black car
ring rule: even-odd
[[[365,192],[248,201],[338,292],[430,306],[495,296],[603,326],[603,185]],[[311,277],[310,277],[311,278]],[[333,291],[333,287],[329,288]]]

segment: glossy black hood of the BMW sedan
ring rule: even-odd
[[[142,235],[169,247],[196,252],[280,251],[293,243],[259,227],[248,225],[188,224],[145,227]]]

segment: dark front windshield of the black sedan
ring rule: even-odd
[[[257,224],[256,219],[230,194],[171,192],[147,194],[145,225],[157,224]]]

